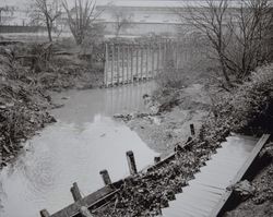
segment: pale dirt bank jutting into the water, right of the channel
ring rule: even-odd
[[[191,135],[190,124],[197,133],[210,110],[210,97],[201,84],[166,93],[161,99],[144,96],[151,113],[119,117],[154,150],[166,156],[175,145]],[[117,116],[118,117],[118,116]]]

